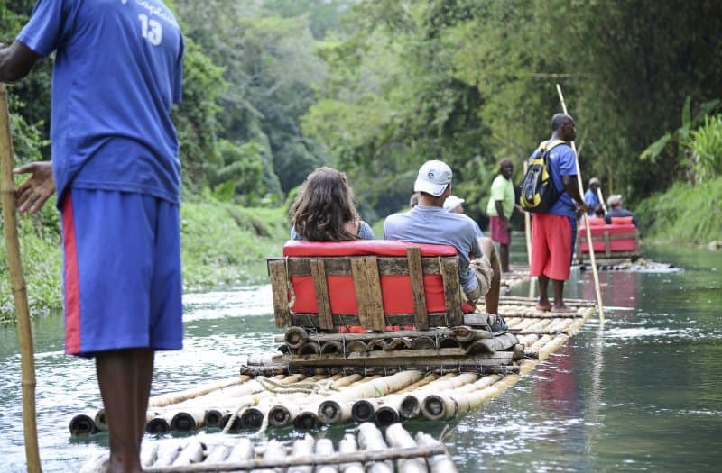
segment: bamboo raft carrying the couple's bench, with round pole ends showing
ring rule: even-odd
[[[450,419],[514,385],[596,312],[588,301],[566,302],[577,312],[540,312],[531,299],[504,297],[499,312],[509,330],[501,334],[480,325],[345,334],[294,328],[277,339],[285,351],[249,359],[241,376],[153,396],[146,430],[257,432],[292,425],[308,431],[324,424]],[[307,344],[317,350],[301,354]],[[83,412],[69,427],[76,436],[103,431],[105,415],[102,409]]]

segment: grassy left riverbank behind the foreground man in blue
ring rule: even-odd
[[[264,274],[264,260],[281,254],[288,238],[284,209],[244,208],[215,201],[181,206],[183,282],[186,290],[231,287]],[[58,214],[49,202],[42,214],[19,222],[23,269],[32,316],[62,307],[62,254]],[[5,253],[5,239],[0,241]],[[12,320],[13,293],[5,258],[0,260],[0,323]]]

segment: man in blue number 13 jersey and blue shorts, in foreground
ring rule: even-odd
[[[64,250],[66,353],[95,357],[108,471],[140,472],[155,350],[182,348],[180,101],[183,38],[160,0],[39,0],[0,80],[55,51],[51,162],[20,168],[21,211],[53,188]]]

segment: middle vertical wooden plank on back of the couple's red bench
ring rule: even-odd
[[[384,331],[384,302],[381,298],[376,258],[351,258],[351,273],[354,276],[358,320],[361,321],[361,326],[367,330]]]

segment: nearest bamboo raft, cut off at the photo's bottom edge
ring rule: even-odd
[[[196,439],[145,441],[141,460],[145,473],[457,471],[440,441],[423,432],[413,438],[400,423],[390,425],[384,433],[373,423],[361,423],[355,433],[338,441],[338,450],[329,439],[317,440],[309,434],[290,445],[272,440],[264,449],[255,449],[245,437],[214,445]],[[80,472],[106,471],[106,463],[104,453],[89,459]]]

